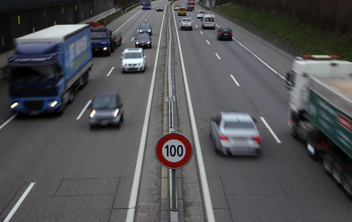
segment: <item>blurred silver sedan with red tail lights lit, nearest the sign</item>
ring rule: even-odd
[[[215,151],[224,155],[258,156],[261,138],[248,113],[220,112],[210,117]]]

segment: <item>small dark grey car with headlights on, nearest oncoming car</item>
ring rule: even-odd
[[[124,104],[115,92],[100,92],[93,99],[89,126],[121,126],[124,119]]]

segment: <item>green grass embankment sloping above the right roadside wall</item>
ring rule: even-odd
[[[348,34],[337,37],[336,33],[329,33],[294,19],[234,4],[214,9],[308,54],[335,54],[340,59],[352,61],[352,37]]]

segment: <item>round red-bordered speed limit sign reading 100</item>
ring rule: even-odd
[[[178,132],[164,134],[155,147],[155,156],[159,163],[169,169],[186,166],[193,155],[189,139]]]

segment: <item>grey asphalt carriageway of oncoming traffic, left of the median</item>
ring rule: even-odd
[[[152,6],[167,3],[153,1]],[[123,25],[122,45],[110,57],[93,57],[88,85],[62,116],[1,119],[0,221],[12,209],[17,210],[11,221],[126,219],[163,13],[139,5],[108,24],[114,30]],[[144,50],[146,71],[121,73],[121,53],[134,47],[132,39],[143,23],[153,27],[153,47]],[[89,110],[83,109],[101,91],[120,94],[125,104],[121,129],[89,129]],[[8,113],[8,105],[2,105]]]

